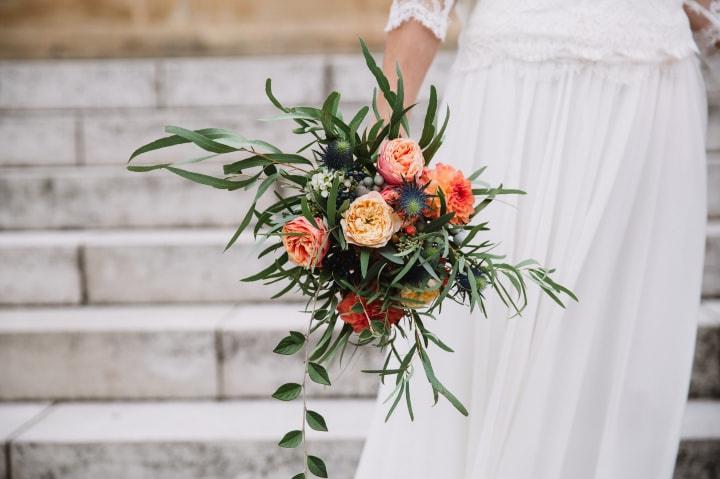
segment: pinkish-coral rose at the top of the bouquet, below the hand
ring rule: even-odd
[[[413,140],[395,138],[380,145],[377,169],[388,185],[402,185],[403,180],[416,179],[424,165],[420,145]]]

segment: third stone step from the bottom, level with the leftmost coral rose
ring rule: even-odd
[[[228,229],[0,234],[0,305],[265,301],[282,289],[239,280],[263,249]],[[703,294],[720,296],[720,223],[711,222]],[[271,255],[270,255],[271,256]],[[267,257],[266,257],[267,258]]]

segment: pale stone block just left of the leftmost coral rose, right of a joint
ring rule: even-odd
[[[90,303],[265,301],[281,288],[240,279],[267,265],[264,248],[232,230],[168,230],[99,234],[86,243]],[[271,256],[271,255],[270,255]]]

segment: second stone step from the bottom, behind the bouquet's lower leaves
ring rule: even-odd
[[[272,353],[304,330],[300,305],[0,310],[0,400],[266,398],[301,377],[299,356]],[[374,350],[330,369],[320,396],[371,397]],[[698,324],[692,398],[720,399],[720,302]]]

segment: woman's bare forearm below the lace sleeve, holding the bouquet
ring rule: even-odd
[[[439,45],[440,39],[416,20],[404,22],[388,33],[383,70],[390,81],[390,86],[394,89],[397,84],[395,64],[399,63],[405,89],[405,106],[414,103],[417,99],[418,90]],[[382,95],[379,95],[379,100],[380,111],[383,117],[387,118],[388,107]]]

